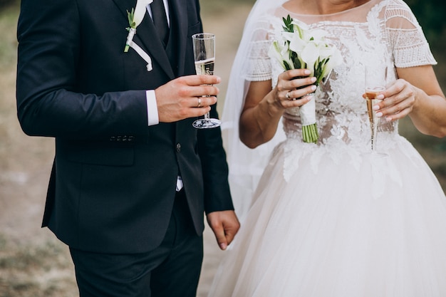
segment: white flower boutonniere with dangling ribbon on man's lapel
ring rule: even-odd
[[[144,19],[145,13],[147,11],[147,5],[151,4],[153,0],[138,0],[136,1],[136,8],[132,11],[127,11],[128,24],[130,27],[126,28],[128,30],[127,41],[125,42],[124,52],[127,53],[129,48],[133,48],[144,61],[147,62],[147,71],[152,71],[152,59],[150,56],[133,42],[133,36],[136,34],[136,28],[141,24],[142,19]]]

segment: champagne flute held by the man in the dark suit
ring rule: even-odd
[[[198,33],[192,35],[194,48],[195,71],[197,74],[214,74],[215,61],[215,35],[211,33]],[[222,121],[210,118],[209,112],[204,114],[204,118],[195,120],[192,124],[197,129],[208,129],[219,127]]]

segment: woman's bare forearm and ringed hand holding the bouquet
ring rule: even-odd
[[[298,107],[307,103],[311,97],[303,95],[313,92],[316,86],[311,85],[316,78],[296,78],[307,76],[310,71],[306,69],[294,69],[285,71],[279,75],[277,85],[271,90],[271,80],[253,81],[249,84],[249,90],[240,115],[239,134],[240,140],[247,147],[254,148],[271,140],[276,134],[277,125],[286,108]],[[306,88],[296,90],[303,85]],[[286,95],[289,94],[289,98]]]

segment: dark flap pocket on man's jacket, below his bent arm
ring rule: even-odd
[[[56,145],[56,154],[71,162],[104,166],[132,166],[135,160],[133,145],[109,143],[62,142]]]

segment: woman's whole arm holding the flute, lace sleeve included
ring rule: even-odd
[[[378,113],[398,120],[409,115],[423,134],[446,136],[446,99],[435,77],[436,65],[422,28],[407,4],[386,6],[385,24],[398,80],[384,93]]]

